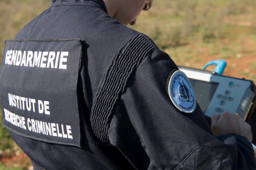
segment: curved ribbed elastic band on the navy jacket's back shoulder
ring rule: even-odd
[[[108,136],[112,114],[127,87],[132,73],[155,50],[141,34],[134,36],[113,58],[101,81],[91,110],[91,126],[104,150],[114,152]],[[114,154],[114,153],[112,153]]]

